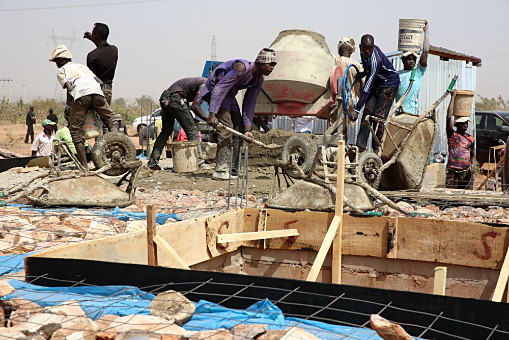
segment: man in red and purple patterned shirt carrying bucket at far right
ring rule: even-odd
[[[473,189],[472,175],[476,170],[474,138],[467,134],[470,118],[455,118],[453,125],[454,93],[451,94],[447,109],[447,144],[449,146],[449,161],[445,187],[451,189]],[[456,130],[454,129],[456,127]]]

